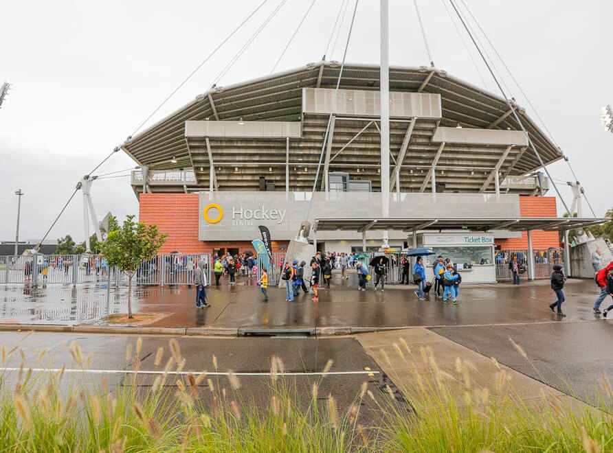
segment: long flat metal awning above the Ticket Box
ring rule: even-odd
[[[401,230],[439,231],[566,231],[592,227],[608,222],[608,218],[559,218],[559,217],[495,217],[495,218],[321,218],[315,220],[315,231],[368,231]]]

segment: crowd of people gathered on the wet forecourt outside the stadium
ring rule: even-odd
[[[607,316],[608,312],[613,310],[613,304],[605,310],[600,310],[600,306],[607,296],[613,298],[613,262],[607,266],[601,267],[602,254],[600,251],[592,253],[592,266],[594,267],[594,281],[599,287],[600,294],[594,303],[594,313]],[[236,284],[236,274],[241,273],[247,277],[256,278],[258,275],[257,257],[248,253],[236,255],[232,257],[218,257],[215,259],[213,271],[215,276],[215,286],[220,285],[220,279],[223,275],[228,275],[229,284]],[[496,258],[497,260],[498,257]],[[524,257],[519,253],[514,253],[509,257],[503,257],[504,263],[508,262],[509,271],[512,275],[513,284],[520,284],[520,275],[526,271],[524,265]],[[555,262],[555,261],[553,261]],[[333,269],[340,270],[341,279],[349,278],[348,270],[355,269],[357,275],[357,290],[366,291],[367,283],[372,279],[374,274],[373,288],[375,291],[380,290],[385,292],[386,277],[388,275],[388,259],[384,256],[376,257],[368,266],[366,262],[359,259],[355,253],[322,253],[317,252],[311,258],[309,267],[311,268],[311,278],[305,277],[305,268],[307,262],[299,262],[294,259],[293,262],[280,262],[280,279],[285,282],[286,301],[293,302],[300,293],[313,294],[311,301],[319,301],[319,289],[330,288]],[[206,272],[204,270],[205,262],[199,262],[197,269],[194,272],[194,283],[197,287],[197,307],[209,307],[206,299],[205,287],[207,286]],[[428,299],[430,292],[434,293],[434,298],[445,304],[453,303],[458,305],[460,283],[462,283],[461,273],[458,272],[457,266],[452,262],[452,259],[438,255],[432,264],[432,272],[434,278],[432,281],[427,281],[425,264],[423,257],[416,257],[414,264],[411,266],[411,260],[407,256],[403,256],[399,262],[401,268],[401,284],[414,283],[417,288],[414,291],[417,299],[423,301]],[[412,272],[410,272],[412,270]],[[262,266],[260,269],[260,277],[257,279],[257,284],[263,294],[263,300],[268,301],[268,283],[269,275],[267,268]],[[558,316],[566,316],[562,311],[562,303],[566,301],[564,294],[564,284],[566,276],[560,264],[554,264],[553,272],[550,277],[550,287],[555,294],[555,301],[549,304],[552,312]],[[308,285],[308,286],[307,286]]]

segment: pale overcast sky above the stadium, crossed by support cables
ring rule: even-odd
[[[260,0],[258,0],[260,1]],[[282,0],[269,0],[214,58],[153,117],[161,119],[202,93]],[[446,3],[443,3],[445,1]],[[459,0],[458,0],[459,1]],[[610,19],[613,2],[465,0],[555,141],[570,158],[598,216],[613,207],[613,135],[600,108],[613,102]],[[353,0],[329,59],[342,59]],[[16,189],[23,189],[21,239],[38,239],[80,177],[122,143],[231,30],[256,1],[4,1],[0,13],[0,82],[13,84],[0,109],[0,240],[15,233]],[[316,0],[276,71],[322,58],[342,0]],[[219,84],[267,75],[310,0],[287,0]],[[484,65],[473,65],[444,5],[418,0],[436,67],[494,91]],[[455,18],[457,22],[457,18]],[[458,25],[459,26],[459,25]],[[468,43],[468,38],[462,34]],[[332,40],[334,42],[334,38]],[[330,47],[333,47],[332,45]],[[493,56],[491,49],[489,54]],[[379,62],[379,2],[361,0],[348,62]],[[412,1],[390,0],[390,64],[428,63]],[[535,115],[498,60],[519,104]],[[478,72],[480,71],[480,73]],[[122,151],[97,174],[133,167]],[[570,181],[566,163],[550,166]],[[570,190],[561,188],[570,205]],[[99,218],[137,213],[129,178],[96,181]],[[551,190],[549,195],[553,195]],[[559,214],[563,208],[559,205]],[[584,215],[590,215],[588,207]],[[80,193],[49,235],[82,240]]]

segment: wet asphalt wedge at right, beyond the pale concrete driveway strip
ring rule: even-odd
[[[613,384],[613,323],[608,320],[433,327],[432,331],[586,402],[601,393],[603,377]]]

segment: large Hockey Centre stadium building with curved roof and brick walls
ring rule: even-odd
[[[131,178],[140,220],[168,233],[163,252],[242,252],[258,225],[285,250],[307,220],[318,168],[308,220],[321,251],[378,249],[388,231],[392,247],[447,247],[491,266],[495,248],[558,248],[559,230],[589,224],[558,218],[513,110],[545,165],[564,155],[524,109],[434,67],[390,67],[381,218],[379,67],[345,65],[327,128],[339,70],[322,61],[215,86],[124,143],[142,166]]]

